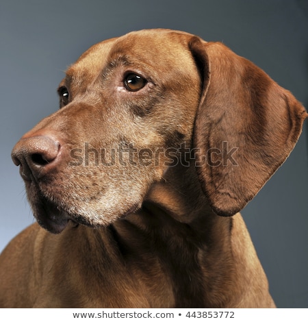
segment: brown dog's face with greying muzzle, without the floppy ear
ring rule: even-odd
[[[94,45],[70,66],[60,110],[14,149],[29,145],[32,160],[13,152],[42,227],[106,225],[140,208],[168,168],[167,149],[192,138],[201,81],[185,44],[168,32],[132,33]],[[33,155],[52,149],[46,137],[57,157],[44,164]]]

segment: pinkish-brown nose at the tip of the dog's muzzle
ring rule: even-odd
[[[38,180],[58,163],[60,143],[45,135],[23,137],[12,150],[12,160],[20,166],[23,179]]]

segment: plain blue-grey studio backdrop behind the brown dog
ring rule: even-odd
[[[14,143],[57,110],[55,88],[90,45],[166,27],[223,41],[308,106],[307,0],[1,0],[0,250],[32,223]],[[307,123],[290,158],[242,211],[279,307],[308,308]]]

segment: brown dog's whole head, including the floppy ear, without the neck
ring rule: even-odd
[[[12,151],[38,223],[54,233],[140,208],[183,144],[211,207],[235,214],[287,158],[307,115],[224,45],[162,29],[94,45],[58,93],[60,110]],[[224,142],[238,149],[236,164],[219,160]]]

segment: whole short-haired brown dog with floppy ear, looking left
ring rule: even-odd
[[[163,29],[94,45],[58,92],[12,151],[40,225],[1,255],[1,307],[274,307],[236,213],[300,135],[290,92]]]

